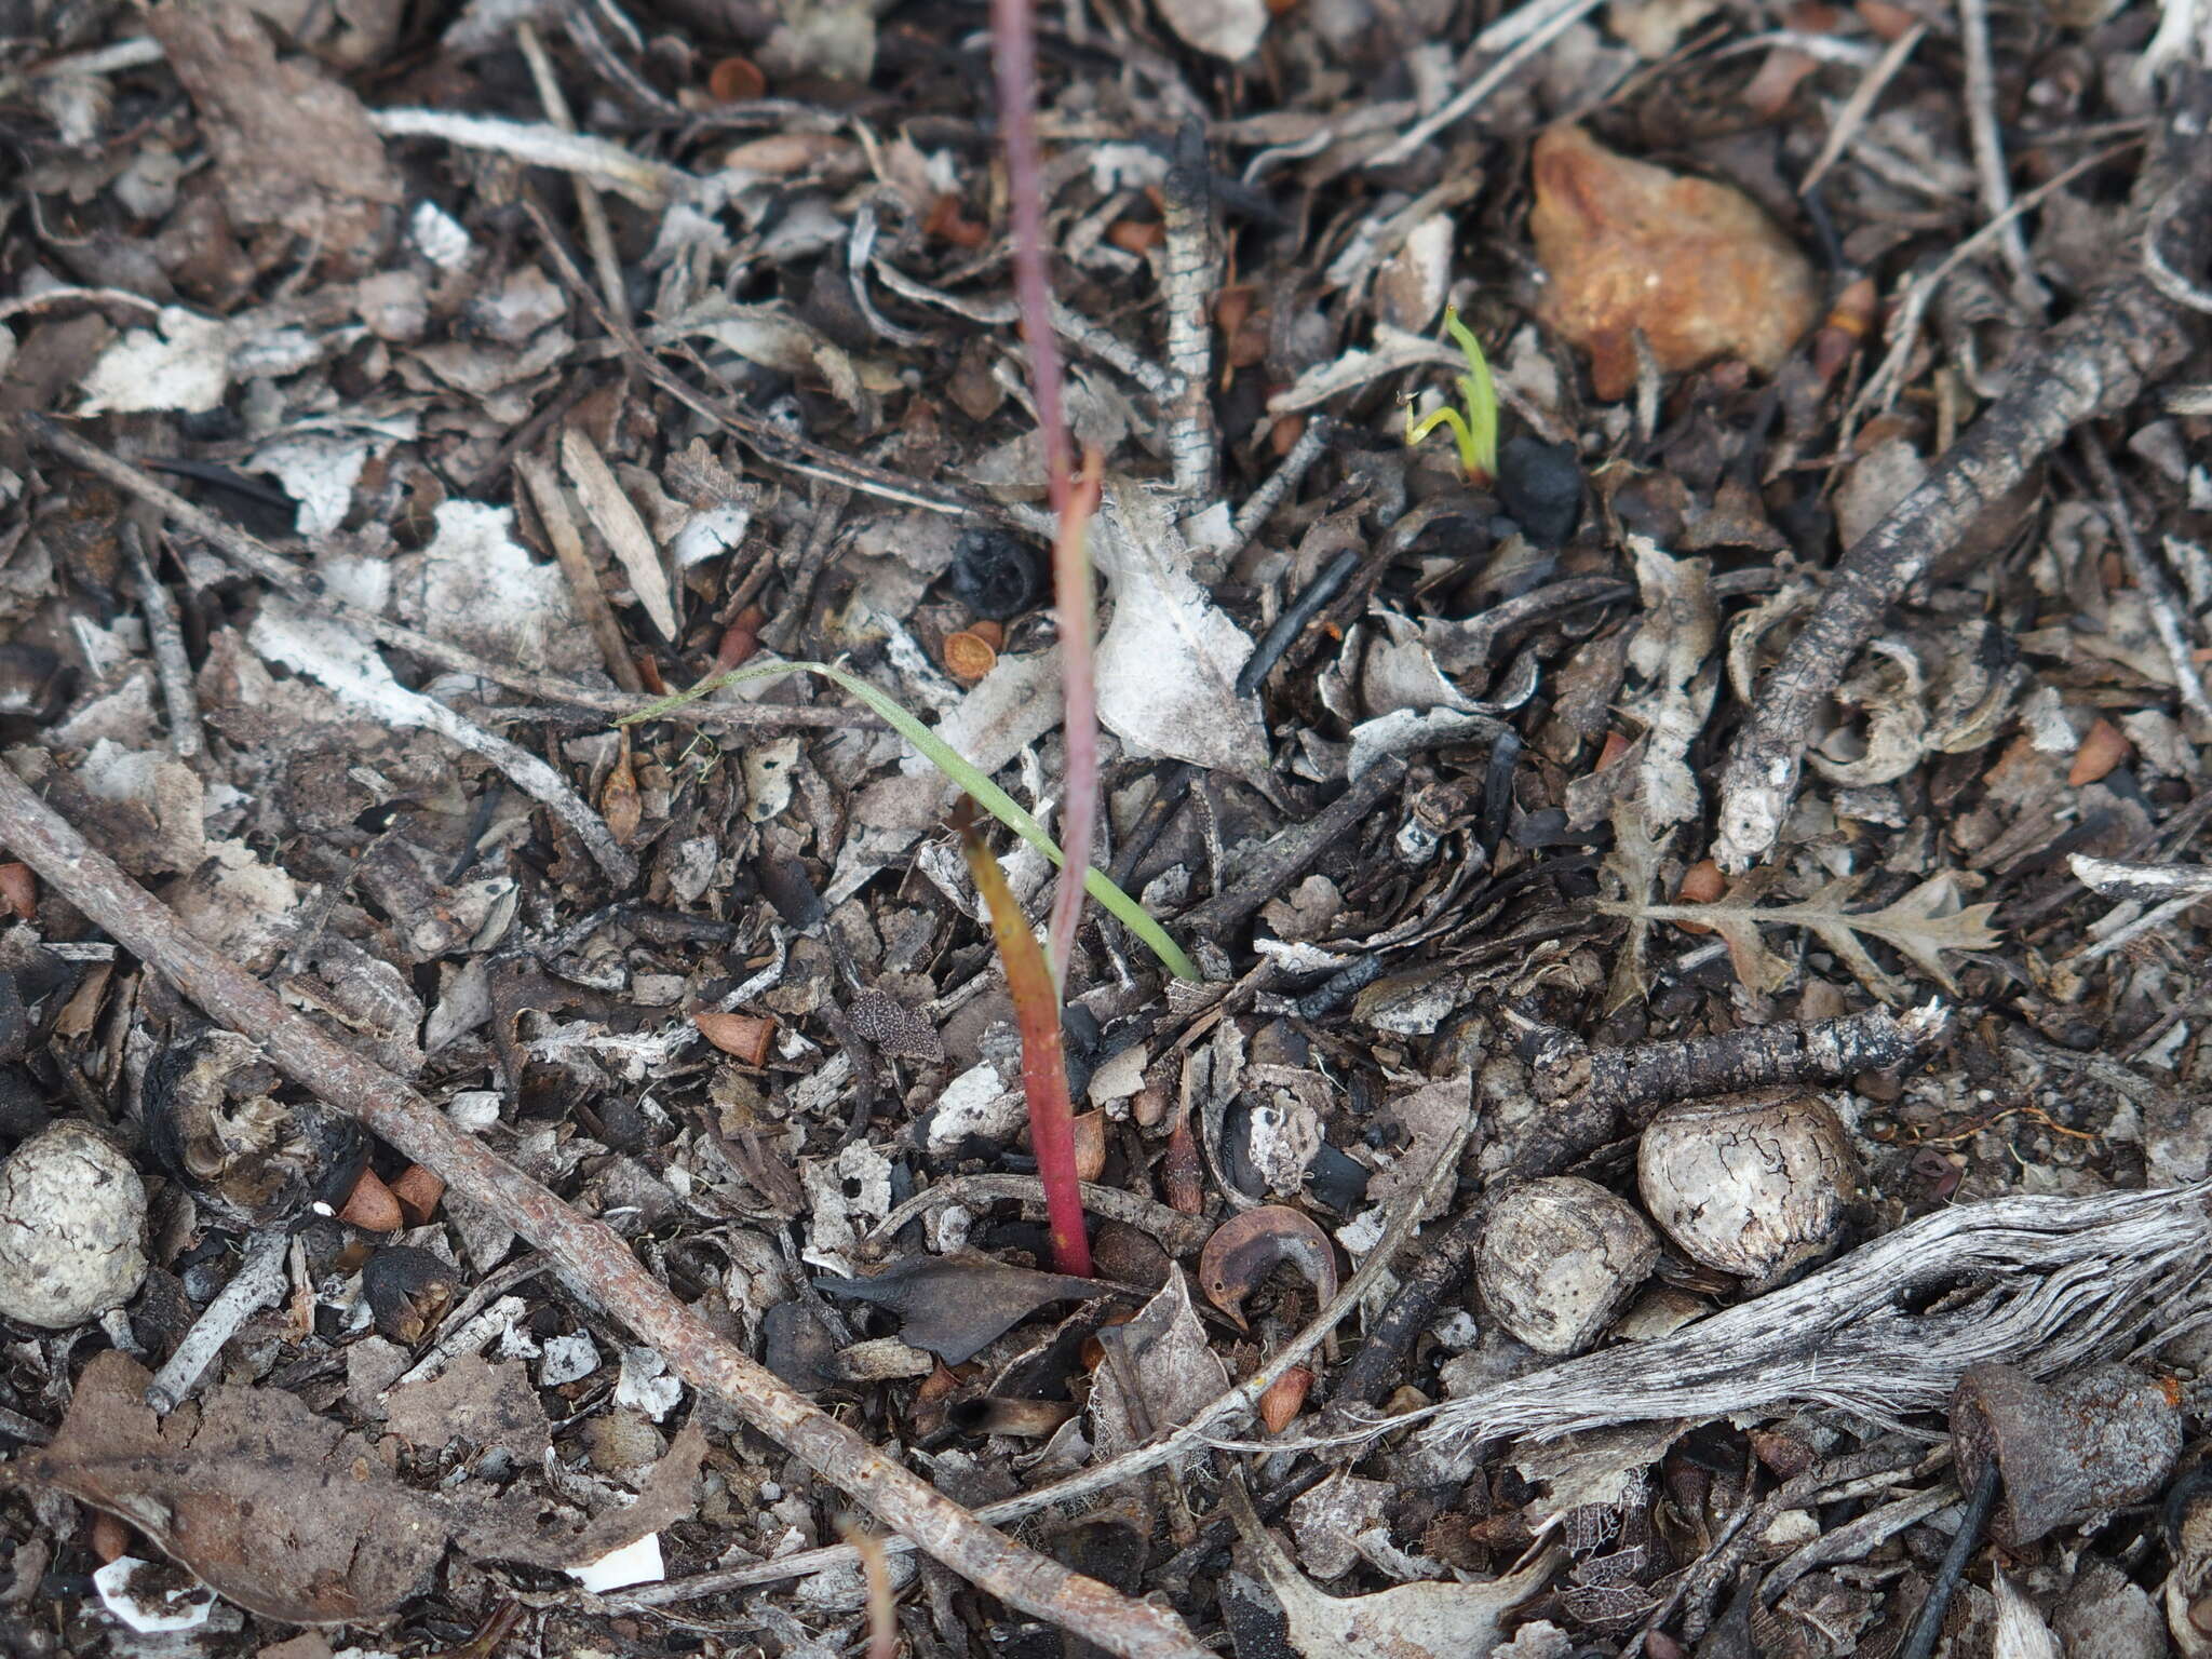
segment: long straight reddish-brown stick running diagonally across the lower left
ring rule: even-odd
[[[646,1272],[622,1234],[577,1214],[482,1141],[453,1128],[405,1082],[332,1040],[237,962],[192,938],[175,911],[95,852],[7,765],[0,765],[0,845],[208,1015],[232,1031],[254,1033],[268,1057],[303,1088],[440,1175],[449,1192],[502,1214],[608,1316],[657,1349],[677,1376],[728,1402],[945,1566],[1000,1601],[1108,1652],[1210,1659],[1172,1613],[1133,1601],[991,1531],[774,1371],[745,1358]]]

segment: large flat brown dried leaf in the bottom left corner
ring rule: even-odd
[[[155,1418],[150,1374],[97,1354],[24,1475],[150,1537],[228,1601],[285,1624],[394,1613],[445,1553],[447,1522],[367,1442],[285,1389],[215,1389]]]

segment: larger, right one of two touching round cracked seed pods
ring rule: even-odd
[[[1836,1248],[1858,1179],[1851,1137],[1818,1095],[1681,1102],[1637,1148],[1637,1188],[1659,1230],[1761,1290]]]

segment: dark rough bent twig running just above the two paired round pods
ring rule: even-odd
[[[1834,1084],[1863,1071],[1900,1066],[1933,1046],[1944,1024],[1933,1009],[1902,1020],[1874,1009],[1812,1026],[1747,1026],[1717,1037],[1599,1053],[1562,1044],[1540,1062],[1540,1093],[1551,1104],[1537,1133],[1517,1150],[1511,1179],[1559,1175],[1617,1139],[1630,1117],[1670,1099],[1781,1084]],[[1498,1186],[1502,1181],[1491,1190]],[[1407,1270],[1391,1305],[1369,1327],[1367,1347],[1352,1358],[1340,1398],[1374,1405],[1391,1389],[1413,1338],[1436,1318],[1444,1296],[1467,1281],[1486,1219],[1489,1192]]]

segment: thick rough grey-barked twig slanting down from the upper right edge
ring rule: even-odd
[[[2172,122],[2146,161],[2137,201],[2148,212],[2168,190],[2183,190],[2192,206],[2172,219],[2172,239],[2203,246],[2212,234],[2212,139],[2179,128]],[[2190,312],[2146,274],[2106,281],[2044,336],[1936,471],[1845,553],[1820,606],[1759,688],[1728,759],[1712,845],[1723,869],[1747,869],[1774,847],[1814,714],[1905,588],[2066,434],[2126,409],[2188,349]]]

